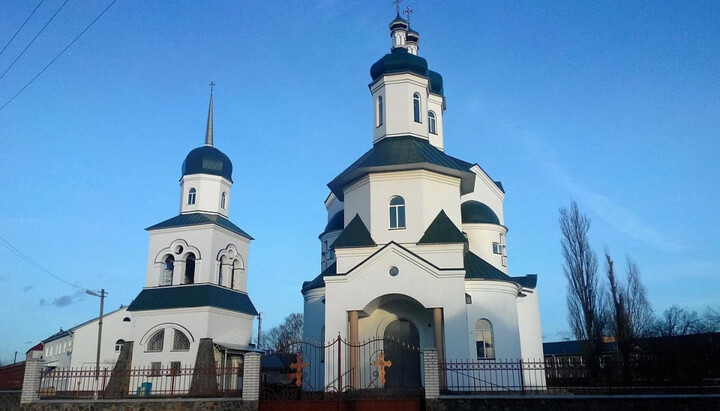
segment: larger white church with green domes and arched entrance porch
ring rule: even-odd
[[[390,37],[370,68],[372,146],[328,183],[304,338],[389,337],[440,361],[542,358],[537,276],[508,273],[503,186],[445,153],[442,76],[399,13]]]

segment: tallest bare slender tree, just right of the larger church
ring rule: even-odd
[[[570,209],[560,209],[560,230],[570,329],[576,339],[584,342],[589,364],[597,369],[605,328],[605,302],[597,278],[597,257],[588,239],[590,219],[580,213],[575,201]]]

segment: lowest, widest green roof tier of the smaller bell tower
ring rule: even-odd
[[[257,310],[247,294],[214,284],[146,288],[135,297],[127,310],[149,311],[191,307],[216,307],[257,315]]]

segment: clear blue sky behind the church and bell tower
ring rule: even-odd
[[[10,65],[64,0],[0,55]],[[71,0],[0,79],[0,105],[111,0]],[[2,0],[4,46],[35,1]],[[445,79],[445,148],[506,189],[509,269],[539,275],[543,334],[568,330],[558,209],[591,245],[639,265],[657,312],[720,290],[720,2],[418,0],[420,55]],[[370,65],[390,1],[118,0],[0,110],[0,361],[128,304],[144,228],[177,214],[180,165],[202,144],[234,164],[230,218],[256,238],[249,293],[263,327],[302,311],[320,269],[326,184],[372,144]],[[601,266],[602,267],[602,266]]]

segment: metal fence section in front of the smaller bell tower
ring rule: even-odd
[[[111,393],[111,381],[120,380]],[[204,383],[200,383],[203,381]],[[208,383],[209,381],[209,383]],[[243,368],[144,367],[114,371],[58,368],[40,377],[40,398],[242,396]]]

